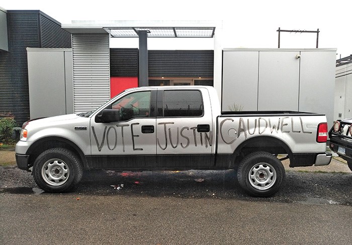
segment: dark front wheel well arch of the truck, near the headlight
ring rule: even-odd
[[[61,148],[66,148],[68,150],[71,150],[79,157],[80,161],[83,164],[83,167],[85,168],[87,166],[87,161],[83,152],[75,143],[65,138],[47,137],[47,138],[42,138],[40,140],[35,141],[27,150],[27,154],[30,155],[29,157],[30,167],[33,166],[35,159],[43,151],[51,148],[56,148],[56,147],[61,147]]]

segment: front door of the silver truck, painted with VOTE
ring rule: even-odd
[[[118,120],[101,122],[104,110],[91,119],[92,160],[105,169],[145,169],[156,161],[156,90],[130,92],[106,109]]]

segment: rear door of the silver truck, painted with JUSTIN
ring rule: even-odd
[[[202,91],[207,96],[202,96]],[[204,110],[207,108],[207,110]],[[206,89],[158,89],[156,153],[159,168],[208,169],[213,128]]]

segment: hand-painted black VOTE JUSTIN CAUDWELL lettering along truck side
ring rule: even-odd
[[[103,135],[100,136],[100,138],[98,135],[101,135],[101,133],[97,133],[95,127],[92,126],[92,132],[98,150],[101,151],[105,146],[111,151],[115,150],[117,147],[122,147],[122,151],[125,152],[125,139],[126,137],[130,137],[132,140],[132,149],[134,151],[143,151],[143,146],[137,146],[136,142],[138,141],[138,137],[141,136],[136,133],[136,131],[141,130],[141,126],[138,125],[139,123],[105,126]],[[213,132],[211,130],[209,132],[198,132],[197,126],[174,127],[174,122],[161,122],[158,123],[158,125],[160,125],[160,137],[156,137],[156,144],[161,150],[166,150],[167,148],[185,149],[191,146],[208,148],[209,146],[212,146]],[[262,117],[247,119],[239,118],[238,120],[226,118],[222,120],[219,125],[220,138],[225,144],[234,143],[242,135],[244,139],[247,139],[247,137],[256,134],[261,135],[263,133],[278,134],[290,132],[312,133],[305,130],[301,117],[282,117],[275,119],[275,122],[271,118]],[[122,143],[118,145],[118,142]]]

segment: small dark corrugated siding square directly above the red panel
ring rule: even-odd
[[[138,49],[110,49],[111,76],[138,76]]]

